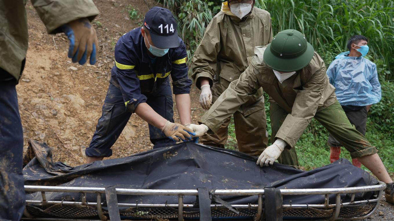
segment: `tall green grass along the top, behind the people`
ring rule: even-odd
[[[178,31],[189,56],[217,13],[221,0],[159,0],[178,19]],[[394,1],[392,0],[255,0],[255,7],[271,13],[274,33],[297,29],[305,34],[327,65],[347,51],[353,35],[369,39],[372,60],[383,60],[389,71],[381,79],[394,80]],[[380,74],[380,73],[379,73]]]

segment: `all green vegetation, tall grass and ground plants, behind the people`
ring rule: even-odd
[[[178,15],[178,33],[188,57],[193,56],[205,27],[220,11],[222,0],[159,0]],[[377,64],[382,100],[370,109],[366,138],[379,149],[390,173],[394,173],[394,2],[391,0],[256,0],[255,7],[271,13],[273,33],[297,29],[305,34],[328,66],[335,55],[347,51],[349,37],[357,34],[369,39],[367,58]],[[191,59],[188,59],[189,62]],[[269,104],[266,103],[268,132]],[[296,148],[305,169],[329,163],[328,133],[313,120]],[[229,126],[227,147],[236,148],[234,124]],[[342,148],[341,157],[350,159]],[[364,168],[365,169],[365,168]]]

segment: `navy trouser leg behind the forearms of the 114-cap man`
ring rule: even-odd
[[[160,116],[164,117],[170,122],[174,122],[174,103],[171,94],[171,87],[169,85],[162,91],[155,93],[152,96],[148,96],[147,104],[151,106],[156,113],[160,114]],[[150,124],[149,136],[152,144],[154,145],[153,149],[175,145],[175,141],[165,136],[162,130]]]

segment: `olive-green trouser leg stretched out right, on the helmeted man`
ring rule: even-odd
[[[376,147],[349,122],[338,101],[317,112],[314,118],[350,152],[351,158],[377,153]]]

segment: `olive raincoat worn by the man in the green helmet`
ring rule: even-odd
[[[335,88],[329,83],[324,61],[316,52],[305,68],[279,83],[273,70],[263,61],[265,49],[266,46],[255,48],[251,64],[221,94],[201,122],[216,131],[226,118],[262,87],[269,94],[270,102],[276,102],[288,113],[275,138],[281,138],[294,147],[316,112],[335,103]]]

